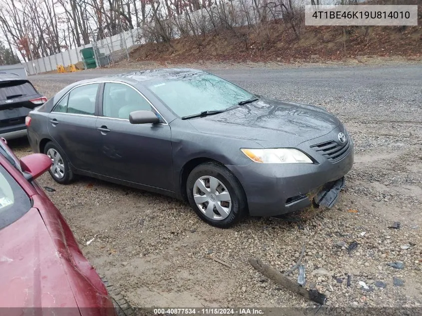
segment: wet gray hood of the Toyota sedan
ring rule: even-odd
[[[189,122],[200,132],[251,139],[264,147],[296,146],[340,123],[319,107],[267,98]]]

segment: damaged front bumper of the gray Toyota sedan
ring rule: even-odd
[[[277,216],[312,204],[332,207],[352,169],[354,152],[335,163],[227,165],[242,184],[251,216]]]

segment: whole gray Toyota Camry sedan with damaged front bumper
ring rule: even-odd
[[[195,69],[75,82],[26,126],[58,183],[80,174],[184,199],[222,228],[247,214],[331,207],[353,165],[335,116]]]

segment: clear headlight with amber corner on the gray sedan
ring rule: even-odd
[[[264,148],[240,149],[249,159],[261,163],[313,163],[312,160],[300,150],[294,148]]]

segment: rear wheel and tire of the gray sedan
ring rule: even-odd
[[[70,183],[73,180],[73,172],[65,153],[58,149],[56,144],[49,141],[45,144],[44,154],[50,157],[53,162],[48,172],[54,181],[60,184]]]

